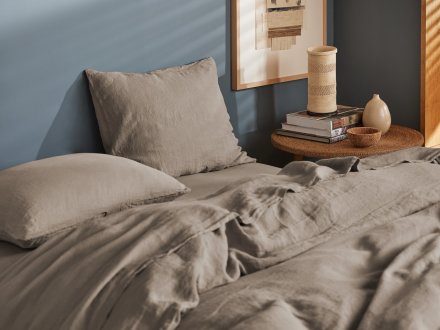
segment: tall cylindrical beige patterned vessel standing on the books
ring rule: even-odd
[[[337,110],[336,53],[331,46],[311,47],[308,53],[308,104],[312,114],[327,114]]]

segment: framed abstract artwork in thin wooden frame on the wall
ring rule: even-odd
[[[307,48],[327,44],[327,0],[231,0],[232,88],[307,78]]]

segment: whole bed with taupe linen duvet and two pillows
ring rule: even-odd
[[[440,149],[259,164],[213,67],[89,71],[108,154],[0,171],[0,328],[439,328]]]

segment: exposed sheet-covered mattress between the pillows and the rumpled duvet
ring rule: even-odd
[[[179,180],[191,188],[191,192],[178,199],[195,200],[203,198],[236,180],[249,178],[258,174],[276,174],[279,170],[278,167],[274,166],[249,163],[230,167],[222,171],[183,176],[180,177]],[[25,253],[26,250],[16,247],[15,245],[0,242],[0,268],[6,267]]]

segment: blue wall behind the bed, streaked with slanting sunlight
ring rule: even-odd
[[[329,1],[329,43],[332,9]],[[289,160],[270,132],[305,107],[307,82],[232,92],[229,16],[227,0],[2,0],[0,169],[102,152],[85,68],[143,72],[207,56],[240,144],[263,162]]]

